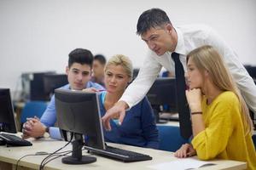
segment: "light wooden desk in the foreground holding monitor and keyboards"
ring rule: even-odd
[[[56,141],[53,139],[38,139],[32,141],[33,145],[28,147],[6,147],[0,146],[0,161],[7,162],[8,164],[12,164],[13,169],[15,169],[15,164],[17,160],[20,159],[22,156],[26,156],[29,154],[35,154],[37,151],[46,151],[46,152],[53,152],[66,144],[64,141]],[[128,146],[124,144],[109,144],[115,147],[119,147],[125,150],[135,150],[140,153],[147,154],[153,157],[152,161],[137,161],[131,163],[124,163],[122,161],[114,161],[108,158],[104,158],[102,156],[96,156],[97,161],[90,164],[85,165],[67,165],[61,163],[61,158],[57,158],[54,161],[50,161],[44,169],[47,170],[55,170],[55,169],[68,169],[68,170],[84,170],[84,169],[111,169],[111,170],[131,170],[131,169],[150,169],[154,170],[148,166],[155,165],[158,163],[170,162],[178,160],[176,157],[173,156],[172,152],[162,151],[162,150],[153,150],[153,149],[145,149],[139,148],[134,146]],[[69,144],[67,148],[64,150],[71,150],[72,146]],[[86,151],[83,151],[83,155],[88,155]],[[19,165],[23,168],[19,167],[20,169],[38,169],[41,161],[44,159],[45,156],[26,156],[21,159]],[[195,157],[196,158],[196,157]],[[210,167],[201,167],[201,169],[245,169],[246,163],[241,161],[211,161],[216,163],[214,166]],[[6,164],[6,163],[5,163]],[[25,168],[24,168],[25,167]],[[172,168],[172,167],[170,167]],[[0,169],[8,170],[6,167]],[[11,166],[9,166],[11,169]]]

